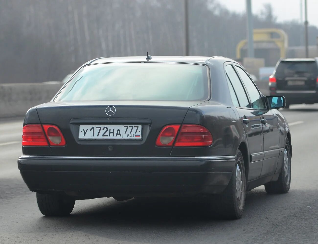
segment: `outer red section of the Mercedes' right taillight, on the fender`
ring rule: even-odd
[[[211,146],[212,135],[202,125],[182,125],[175,146]]]

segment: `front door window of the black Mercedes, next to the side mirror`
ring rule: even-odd
[[[266,109],[264,101],[261,98],[259,91],[255,87],[251,78],[248,77],[248,75],[245,73],[245,71],[241,67],[235,66],[235,68],[238,71],[239,76],[241,77],[241,79],[245,85],[246,91],[251,99],[252,108],[254,108],[254,109]]]

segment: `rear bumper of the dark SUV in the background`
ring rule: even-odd
[[[271,96],[284,96],[287,104],[318,103],[317,91],[271,91]]]

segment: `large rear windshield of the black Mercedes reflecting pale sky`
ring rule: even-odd
[[[207,67],[175,63],[114,63],[83,67],[55,101],[202,101]]]

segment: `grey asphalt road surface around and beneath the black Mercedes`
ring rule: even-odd
[[[209,220],[196,199],[78,200],[44,217],[17,169],[22,121],[0,121],[0,243],[318,243],[318,105],[282,110],[291,127],[289,193],[247,193],[240,220]]]

